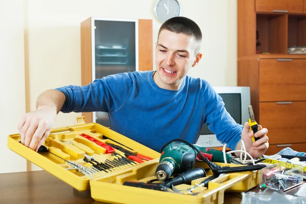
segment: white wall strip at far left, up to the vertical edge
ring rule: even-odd
[[[7,147],[25,112],[23,3],[0,1],[0,173],[27,170],[27,161]]]

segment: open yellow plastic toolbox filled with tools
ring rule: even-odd
[[[103,146],[105,144],[113,149]],[[8,147],[11,150],[79,191],[90,189],[91,197],[97,201],[169,204],[223,203],[225,191],[244,192],[257,186],[259,182],[258,171],[248,171],[219,176],[209,182],[208,188],[196,186],[212,175],[211,171],[207,171],[206,177],[192,181],[191,185],[175,186],[177,190],[181,190],[179,193],[123,186],[125,181],[148,182],[156,179],[155,170],[159,164],[159,152],[103,125],[85,123],[84,117],[78,117],[77,125],[53,129],[45,140],[44,146],[48,151],[36,152],[20,143],[19,134],[8,137]],[[133,155],[148,158],[139,160],[142,157],[134,158],[133,155],[130,157],[125,150],[133,152]],[[90,158],[94,162],[90,161]],[[100,165],[95,165],[96,162]],[[204,162],[196,162],[195,166],[208,168]],[[195,187],[192,190],[193,194],[184,191],[191,187]]]

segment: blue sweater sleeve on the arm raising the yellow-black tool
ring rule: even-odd
[[[226,111],[222,98],[210,85],[204,91],[203,100],[206,106],[204,122],[216,134],[218,141],[235,150],[241,140],[243,126]]]

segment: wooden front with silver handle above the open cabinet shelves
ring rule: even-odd
[[[256,12],[303,13],[303,0],[256,0]]]

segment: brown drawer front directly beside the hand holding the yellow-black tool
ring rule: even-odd
[[[270,144],[306,142],[306,101],[260,103],[259,109]]]

